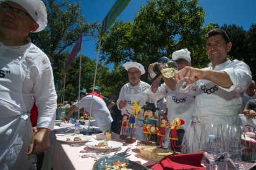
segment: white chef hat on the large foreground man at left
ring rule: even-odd
[[[38,23],[39,27],[36,32],[39,32],[47,26],[47,12],[45,8],[45,4],[43,4],[40,0],[1,0],[4,1],[12,1],[20,6],[22,6],[25,10],[27,10],[28,14]]]

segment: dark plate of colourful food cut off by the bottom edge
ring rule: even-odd
[[[147,170],[147,168],[135,163],[134,161],[126,160],[125,158],[117,156],[105,156],[93,164],[93,170],[111,169]]]

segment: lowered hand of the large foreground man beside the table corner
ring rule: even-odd
[[[38,128],[38,132],[30,141],[27,155],[38,155],[39,153],[44,152],[49,147],[49,131],[50,129]]]

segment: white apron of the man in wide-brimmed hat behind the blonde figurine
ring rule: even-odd
[[[140,105],[139,107],[142,107],[143,105],[146,104],[146,97],[145,95],[142,95],[142,84],[140,82],[140,94],[129,94],[129,87],[127,88],[127,94],[124,95],[124,100],[127,101],[126,106],[124,108],[122,108],[122,113],[127,113],[127,111],[129,111],[129,113],[132,113],[130,111],[130,105],[132,104],[132,102],[134,102],[134,100],[137,100],[138,102],[140,101]],[[140,110],[139,114],[139,118],[143,118],[143,109]],[[139,121],[139,119],[135,119],[135,124],[137,126],[137,128],[134,128],[134,134],[132,134],[132,137],[135,137],[137,140],[145,140],[146,134],[143,133],[143,121]],[[130,134],[129,134],[130,135]],[[130,137],[130,136],[129,136]]]

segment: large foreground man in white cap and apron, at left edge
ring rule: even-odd
[[[47,25],[40,0],[0,1],[0,167],[32,169],[32,154],[49,147],[56,118],[57,95],[48,57],[28,34]],[[38,132],[33,136],[30,113],[38,107]]]

